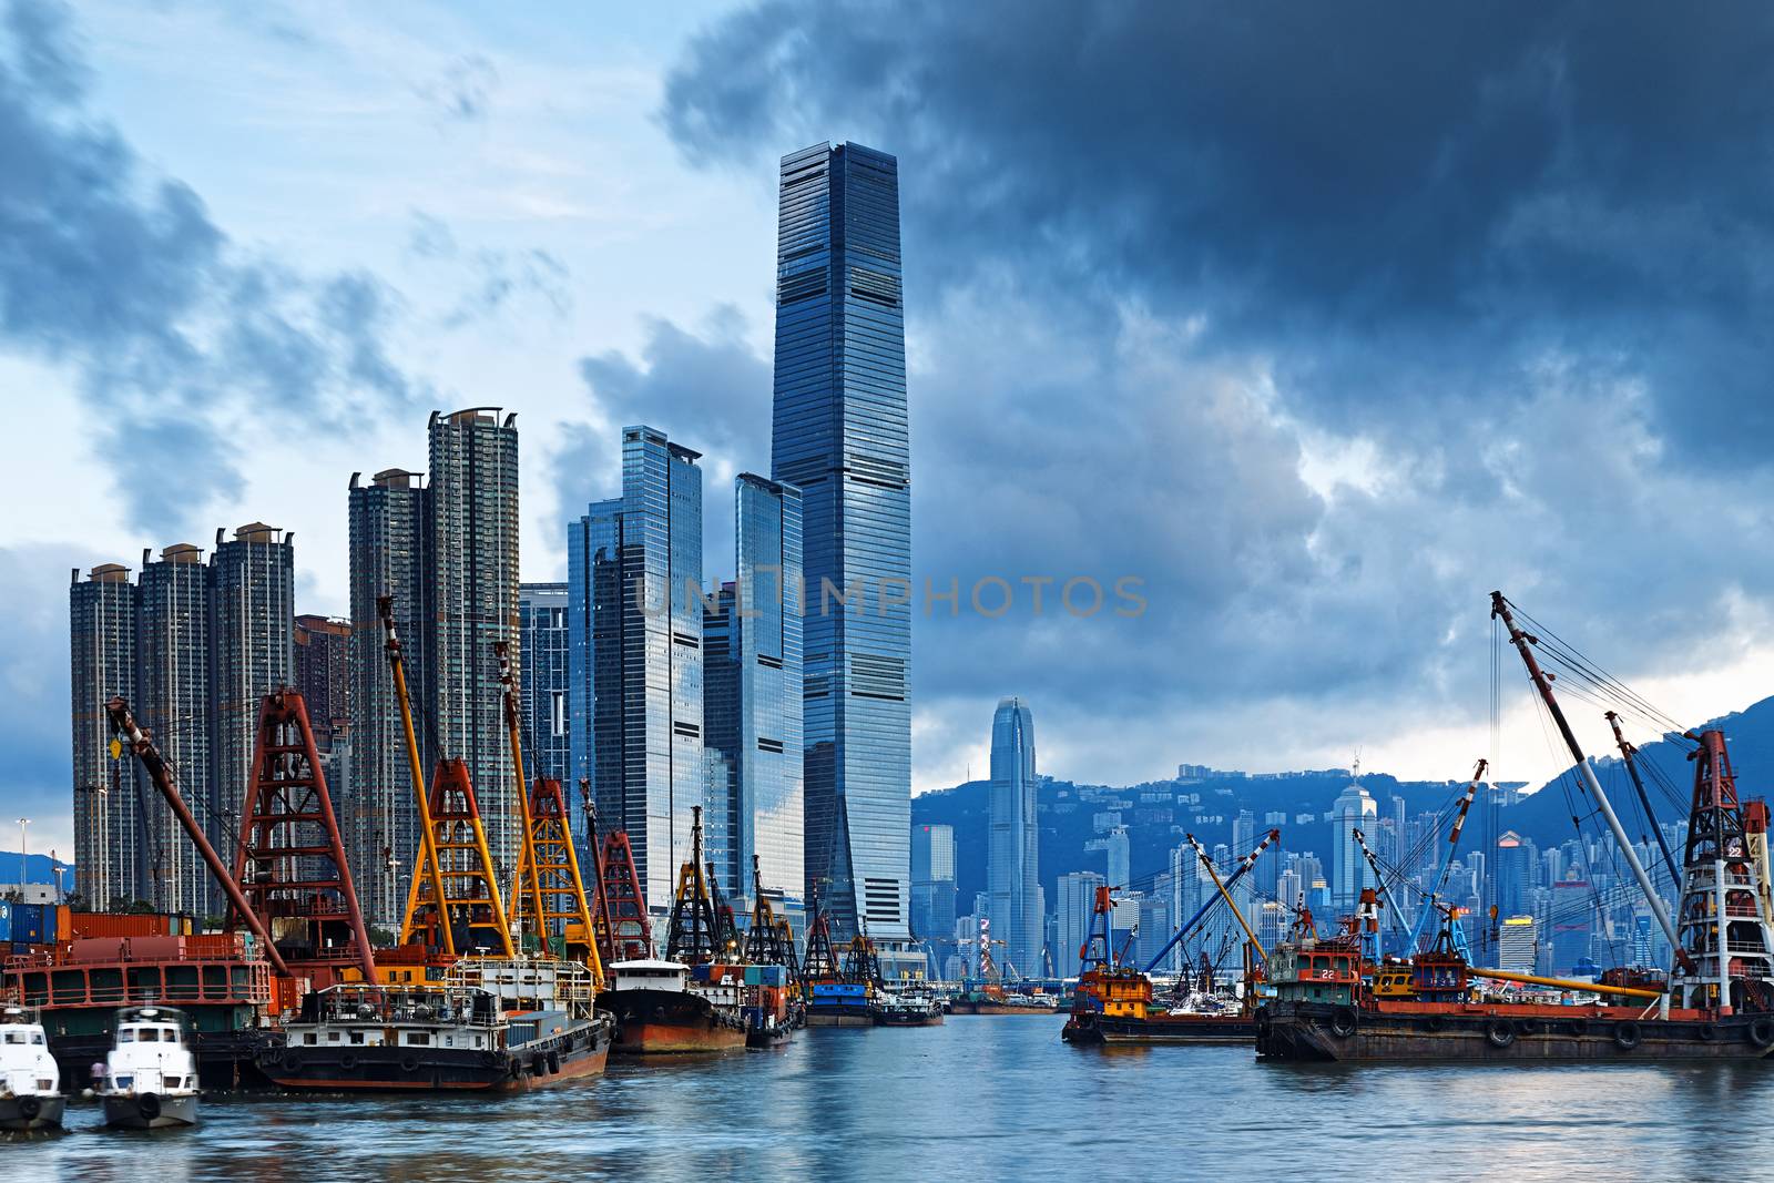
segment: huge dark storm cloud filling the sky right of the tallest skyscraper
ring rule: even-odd
[[[662,121],[899,156],[921,575],[1150,584],[938,612],[926,704],[1426,725],[1494,585],[1637,669],[1774,596],[1769,60],[1742,4],[775,2]]]

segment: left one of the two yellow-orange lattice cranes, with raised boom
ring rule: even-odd
[[[394,631],[394,596],[376,599],[376,610],[381,614],[383,651],[394,674],[394,697],[401,708],[406,761],[419,807],[419,866],[413,867],[413,883],[406,894],[401,944],[424,940],[454,960],[467,952],[461,944],[481,935],[486,949],[509,958],[511,926],[506,921],[506,903],[493,873],[493,855],[486,846],[486,828],[481,825],[481,807],[474,798],[468,764],[459,759],[440,759],[431,789],[426,791],[401,640]]]

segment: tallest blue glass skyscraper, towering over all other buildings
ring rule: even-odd
[[[818,144],[781,167],[770,463],[802,491],[805,864],[839,938],[910,935],[910,461],[899,165]]]

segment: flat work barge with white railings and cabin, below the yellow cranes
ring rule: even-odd
[[[463,958],[444,983],[346,983],[303,999],[259,1069],[296,1091],[527,1093],[596,1077],[612,1023],[591,972],[552,958]]]

